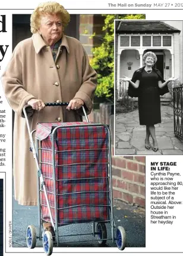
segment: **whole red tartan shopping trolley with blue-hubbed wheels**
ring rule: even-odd
[[[47,106],[66,104],[68,103],[46,103]],[[84,108],[83,112],[88,121]],[[26,107],[24,115],[38,174],[39,236],[36,236],[33,225],[27,227],[29,248],[36,246],[36,238],[43,239],[46,255],[52,254],[52,234],[46,231],[42,235],[41,232],[42,221],[48,221],[55,230],[57,246],[58,227],[92,223],[92,233],[79,235],[96,236],[100,244],[105,244],[107,240],[116,240],[118,248],[124,249],[124,228],[118,227],[116,238],[114,236],[109,127],[91,122],[57,122],[39,123],[36,130],[30,131]],[[110,239],[107,238],[106,223],[111,224]]]

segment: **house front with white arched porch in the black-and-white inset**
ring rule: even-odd
[[[118,99],[128,89],[128,82],[121,81],[122,76],[131,78],[135,70],[143,67],[143,55],[147,51],[156,54],[154,67],[160,70],[165,80],[174,76],[182,82],[182,21],[121,20],[115,25]],[[169,98],[169,95],[163,98]]]

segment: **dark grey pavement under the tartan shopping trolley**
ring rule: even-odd
[[[146,218],[144,209],[132,206],[124,202],[115,201],[114,203],[115,225],[122,226],[127,235],[127,247],[145,247],[146,246]],[[26,244],[26,229],[27,226],[33,224],[38,230],[37,206],[22,206],[18,205],[13,199],[12,213],[12,246],[27,247]],[[108,238],[111,238],[111,227],[106,224]],[[92,232],[92,224],[71,224],[68,226],[59,227],[59,235],[78,234],[73,237],[62,237],[62,242],[59,247],[98,247],[96,237],[80,236],[81,233]],[[72,241],[74,242],[70,242]],[[80,240],[87,242],[80,242]],[[94,239],[94,242],[90,240]],[[37,239],[36,246],[42,247],[42,241]],[[105,247],[116,247],[111,240],[106,242]]]

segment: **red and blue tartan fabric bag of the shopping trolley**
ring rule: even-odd
[[[109,220],[108,136],[103,126],[58,128],[55,143],[56,203],[58,224]],[[89,123],[86,123],[89,124]],[[52,129],[56,124],[39,124],[42,172],[55,223],[53,189]],[[60,124],[59,124],[60,125]],[[62,123],[64,126],[64,123]],[[45,130],[45,131],[43,131]],[[49,130],[49,134],[48,134]],[[46,135],[43,135],[46,134]],[[50,221],[44,192],[40,192],[42,217]]]

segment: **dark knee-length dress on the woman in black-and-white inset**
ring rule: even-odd
[[[138,87],[138,113],[140,125],[154,125],[161,122],[160,92],[158,81],[161,79],[154,70],[147,73],[143,70],[137,75],[140,80]]]

